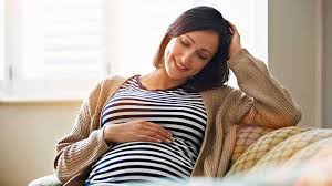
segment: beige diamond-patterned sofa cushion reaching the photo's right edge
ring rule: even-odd
[[[332,130],[326,128],[292,126],[268,132],[255,143],[250,142],[251,145],[234,162],[227,176],[252,173],[268,166],[299,166],[314,156],[319,147],[330,145],[331,141]]]

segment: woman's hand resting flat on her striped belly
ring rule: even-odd
[[[132,121],[112,124],[104,127],[104,140],[107,144],[124,142],[166,142],[173,141],[172,133],[160,125],[146,121]]]

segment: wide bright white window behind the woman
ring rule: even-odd
[[[200,4],[267,61],[264,0],[0,0],[0,101],[80,100],[105,75],[147,73],[167,27]]]

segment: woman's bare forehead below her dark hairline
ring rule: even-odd
[[[219,44],[219,35],[216,31],[191,31],[181,35],[189,37],[198,48],[204,48],[211,52],[217,52]]]

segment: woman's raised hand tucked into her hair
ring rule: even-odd
[[[229,52],[228,52],[228,58],[232,58],[236,55],[241,49],[241,40],[240,40],[240,34],[237,30],[237,28],[229,22],[229,31],[231,34],[230,43],[229,43]]]

